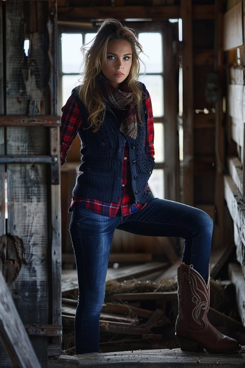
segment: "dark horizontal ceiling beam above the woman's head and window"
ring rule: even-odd
[[[168,21],[180,18],[178,5],[164,6],[58,6],[58,21],[81,22],[91,19],[152,19],[152,21]],[[214,5],[194,5],[195,19],[214,19]]]

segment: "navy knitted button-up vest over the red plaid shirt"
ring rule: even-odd
[[[145,84],[141,89],[146,92]],[[146,203],[154,197],[147,191],[147,182],[155,165],[154,158],[146,155],[145,140],[147,122],[145,119],[145,103],[143,99],[141,118],[136,139],[124,135],[120,131],[121,122],[118,121],[110,106],[106,105],[103,124],[97,132],[87,128],[88,111],[80,100],[77,89],[72,94],[80,110],[82,124],[78,135],[82,142],[81,160],[79,167],[81,174],[76,179],[73,194],[82,198],[93,198],[102,202],[120,202],[122,191],[122,165],[125,140],[129,148],[129,169],[134,203]],[[144,94],[144,96],[146,96]]]

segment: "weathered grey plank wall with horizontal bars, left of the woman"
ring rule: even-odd
[[[0,266],[42,367],[62,331],[56,16],[55,1],[0,2]]]

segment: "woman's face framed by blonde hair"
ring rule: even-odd
[[[132,48],[125,40],[109,41],[106,53],[106,63],[102,73],[110,83],[118,88],[127,78],[132,64]]]

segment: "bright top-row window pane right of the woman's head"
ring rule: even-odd
[[[162,35],[157,32],[139,33],[139,42],[143,47],[143,53],[140,57],[146,64],[147,73],[162,73],[163,71],[163,55],[162,55]],[[140,72],[144,73],[145,68],[141,63]]]

